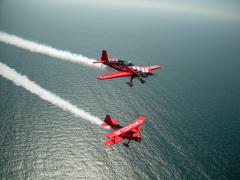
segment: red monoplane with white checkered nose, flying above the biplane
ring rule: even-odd
[[[155,70],[155,69],[158,69],[161,67],[158,65],[140,67],[140,66],[135,66],[130,61],[124,61],[119,58],[108,59],[106,50],[102,51],[101,60],[94,61],[93,63],[102,63],[104,65],[107,65],[107,66],[117,70],[110,74],[104,74],[101,76],[97,76],[98,79],[105,80],[105,79],[129,76],[129,77],[131,77],[130,81],[127,82],[127,84],[129,86],[133,86],[132,80],[134,78],[138,78],[138,80],[142,84],[145,83],[143,78],[154,75],[152,70]]]

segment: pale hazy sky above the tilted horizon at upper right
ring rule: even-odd
[[[240,19],[240,1],[235,0],[90,0],[88,2],[110,8],[126,6],[150,11]]]

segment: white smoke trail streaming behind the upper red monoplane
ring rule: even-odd
[[[80,54],[74,54],[69,51],[58,50],[44,44],[39,44],[33,41],[25,40],[21,37],[10,35],[2,31],[0,31],[0,42],[11,44],[19,48],[27,49],[31,52],[36,52],[36,53],[45,54],[51,57],[59,58],[64,61],[70,61],[73,63],[82,63],[82,64],[89,65],[91,67],[101,67],[99,64],[93,64],[94,59],[87,58]]]

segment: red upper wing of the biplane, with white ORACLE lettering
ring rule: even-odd
[[[146,121],[146,118],[144,116],[140,116],[135,121],[128,124],[127,126],[124,126],[123,128],[120,128],[120,129],[117,129],[115,131],[111,131],[109,133],[106,133],[106,134],[104,134],[104,136],[106,136],[108,138],[113,138],[113,137],[119,136],[121,134],[124,134],[128,131],[133,131],[134,133],[138,132],[142,128],[139,125],[141,125],[145,121]]]

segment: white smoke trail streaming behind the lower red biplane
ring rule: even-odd
[[[42,88],[35,82],[28,79],[28,77],[19,74],[14,69],[8,67],[7,65],[1,62],[0,62],[0,75],[12,81],[17,86],[25,88],[26,90],[30,91],[33,94],[36,94],[40,98],[62,108],[65,111],[71,112],[77,117],[86,119],[97,125],[100,125],[102,123],[102,121],[99,118],[92,116],[90,113],[79,109],[77,106],[72,105],[70,102],[47,91],[46,89]]]

